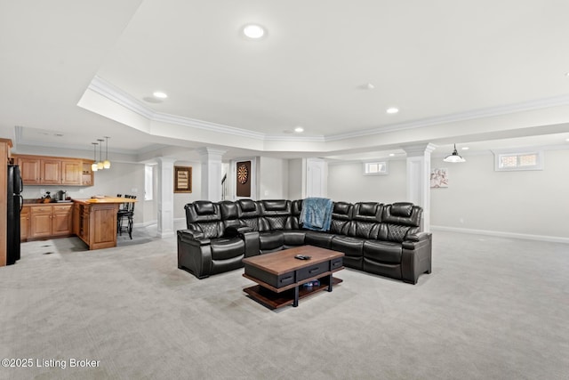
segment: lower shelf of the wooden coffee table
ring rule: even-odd
[[[302,298],[306,298],[309,295],[314,295],[315,293],[318,293],[322,290],[327,290],[328,282],[325,279],[328,279],[328,277],[326,276],[322,279],[319,279],[320,285],[317,287],[308,288],[308,287],[303,287],[302,285],[299,286],[299,300],[301,300]],[[338,285],[341,282],[342,279],[338,279],[336,277],[332,278],[333,286]],[[269,290],[267,287],[261,287],[260,285],[255,285],[252,287],[245,287],[243,291],[246,294],[250,295],[252,299],[272,309],[278,309],[283,306],[288,306],[293,304],[294,302],[294,288],[290,288],[281,293],[276,293],[273,292],[272,290]]]

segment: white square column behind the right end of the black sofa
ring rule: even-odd
[[[407,153],[407,200],[423,209],[422,230],[430,231],[430,154],[431,143],[404,145]]]

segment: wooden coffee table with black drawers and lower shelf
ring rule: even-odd
[[[295,255],[307,255],[310,259],[299,260]],[[273,309],[291,303],[296,307],[299,299],[324,289],[332,292],[333,285],[341,283],[333,272],[344,269],[343,256],[330,249],[302,246],[247,257],[243,259],[243,276],[259,285],[246,287],[244,292]],[[316,279],[318,286],[303,287]]]

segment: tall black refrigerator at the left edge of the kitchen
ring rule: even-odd
[[[6,239],[6,264],[12,265],[20,260],[20,211],[24,199],[21,196],[20,166],[8,166],[8,236]]]

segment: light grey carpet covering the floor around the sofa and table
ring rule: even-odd
[[[147,241],[148,240],[148,241]],[[84,251],[22,244],[0,268],[7,379],[566,379],[569,246],[435,232],[415,286],[344,270],[332,293],[270,311],[243,270],[198,280],[175,239]],[[71,359],[100,360],[69,368]],[[37,368],[60,360],[66,368]]]

